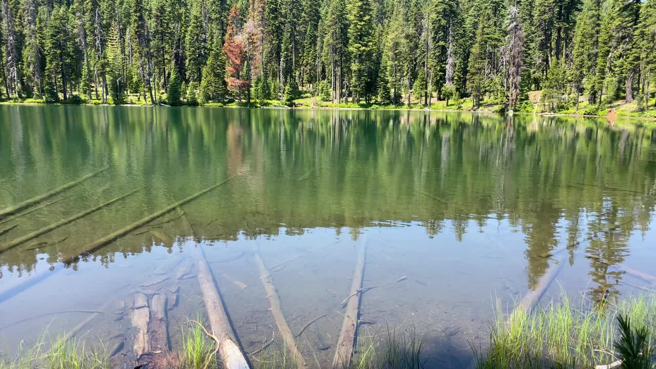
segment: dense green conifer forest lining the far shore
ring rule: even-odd
[[[0,1],[5,100],[656,105],[656,0]]]

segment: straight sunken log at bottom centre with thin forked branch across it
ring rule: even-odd
[[[346,304],[342,330],[337,340],[337,349],[333,358],[333,369],[349,368],[353,357],[356,336],[358,334],[358,313],[361,297],[358,289],[362,287],[362,279],[365,272],[365,249],[366,240],[362,240],[358,245],[358,261],[356,262],[356,269],[351,284],[351,293],[355,293],[355,298],[349,299]]]

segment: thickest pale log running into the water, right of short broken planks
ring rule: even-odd
[[[198,284],[201,288],[201,295],[203,296],[212,333],[218,340],[219,355],[223,368],[250,368],[249,362],[241,352],[239,345],[237,345],[236,335],[232,330],[230,320],[228,320],[228,314],[221,301],[218,288],[216,288],[205,253],[199,244],[195,246],[194,253],[198,261]]]

